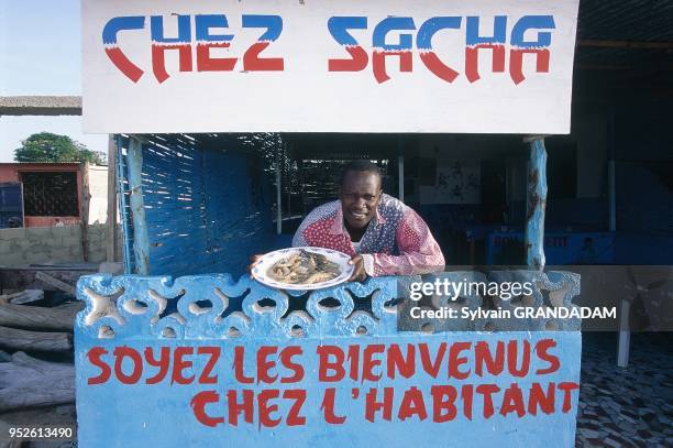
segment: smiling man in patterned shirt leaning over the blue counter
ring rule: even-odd
[[[444,255],[426,222],[410,207],[383,193],[378,167],[354,161],[342,173],[339,200],[311,211],[294,247],[333,249],[352,256],[351,281],[444,270]]]

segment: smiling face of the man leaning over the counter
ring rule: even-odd
[[[380,195],[380,177],[374,173],[349,171],[339,195],[347,225],[353,229],[366,227],[376,216]]]

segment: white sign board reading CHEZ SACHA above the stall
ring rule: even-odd
[[[92,133],[570,132],[578,0],[82,0]]]

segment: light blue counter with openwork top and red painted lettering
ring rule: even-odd
[[[539,306],[542,289],[578,292],[572,275],[530,275]],[[574,444],[580,331],[398,331],[397,286],[317,291],[288,313],[297,297],[247,277],[82,277],[79,445]]]

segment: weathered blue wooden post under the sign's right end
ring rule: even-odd
[[[530,144],[528,162],[528,200],[526,205],[526,263],[544,269],[544,209],[547,207],[547,150],[544,138],[525,140]]]

